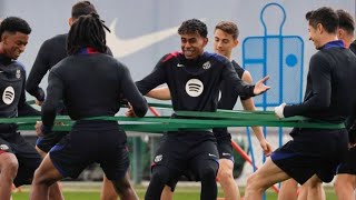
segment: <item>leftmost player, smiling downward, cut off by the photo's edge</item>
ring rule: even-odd
[[[24,67],[16,61],[24,51],[31,33],[30,26],[20,18],[6,18],[0,26],[0,117],[16,118],[39,114],[26,103]],[[0,124],[0,199],[10,199],[16,187],[31,183],[41,162],[36,149],[24,141],[17,124]]]

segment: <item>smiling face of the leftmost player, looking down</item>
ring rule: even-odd
[[[14,34],[4,32],[1,40],[2,51],[7,57],[16,60],[24,51],[28,40],[29,36],[22,32],[16,32]]]

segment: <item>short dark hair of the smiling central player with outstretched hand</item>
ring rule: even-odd
[[[178,29],[178,34],[192,34],[197,32],[204,38],[208,36],[207,26],[198,19],[184,21]]]

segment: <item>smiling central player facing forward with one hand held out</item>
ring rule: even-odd
[[[217,53],[204,52],[208,42],[207,27],[191,19],[178,29],[182,52],[166,54],[154,71],[137,82],[142,94],[167,83],[175,111],[216,111],[219,84],[222,80],[235,86],[233,92],[251,97],[268,90],[263,82],[243,82],[229,60]],[[200,199],[216,199],[218,152],[210,131],[179,130],[168,132],[156,152],[152,176],[145,199],[160,199],[165,184],[172,187],[177,179],[191,171],[201,180]]]

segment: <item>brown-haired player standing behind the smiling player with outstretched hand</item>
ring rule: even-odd
[[[231,52],[234,48],[238,46],[238,28],[234,22],[221,21],[215,27],[214,33],[214,50],[215,52],[225,56],[228,60],[231,61],[235,71],[238,77],[247,82],[251,83],[253,78],[250,73],[244,70],[235,60],[231,59]],[[222,82],[220,86],[221,98],[218,103],[219,109],[234,109],[234,106],[238,99],[238,93],[231,92],[233,87],[228,86],[226,82]],[[253,98],[240,97],[244,109],[255,110],[255,103]],[[265,152],[266,156],[269,156],[271,152],[271,147],[265,140],[261,128],[253,127],[253,130]],[[234,180],[233,170],[234,170],[234,157],[233,157],[233,147],[231,147],[231,134],[228,132],[227,128],[214,129],[214,136],[217,139],[217,148],[219,151],[219,170],[217,179],[219,180],[226,200],[236,200],[239,199],[238,187]],[[162,193],[162,199],[168,200],[172,199],[171,189],[168,187],[165,188]]]

